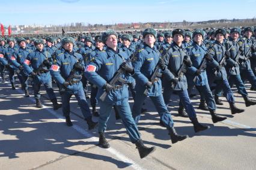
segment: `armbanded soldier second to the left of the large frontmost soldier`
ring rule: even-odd
[[[52,56],[49,52],[43,49],[43,39],[35,40],[34,44],[37,49],[28,54],[23,62],[23,68],[25,73],[29,74],[33,79],[35,105],[37,108],[43,108],[40,102],[40,87],[41,84],[43,84],[44,88],[46,88],[46,93],[53,104],[53,110],[57,110],[58,108],[61,108],[61,104],[57,102],[52,88],[52,77],[49,72],[49,68],[52,65]]]

